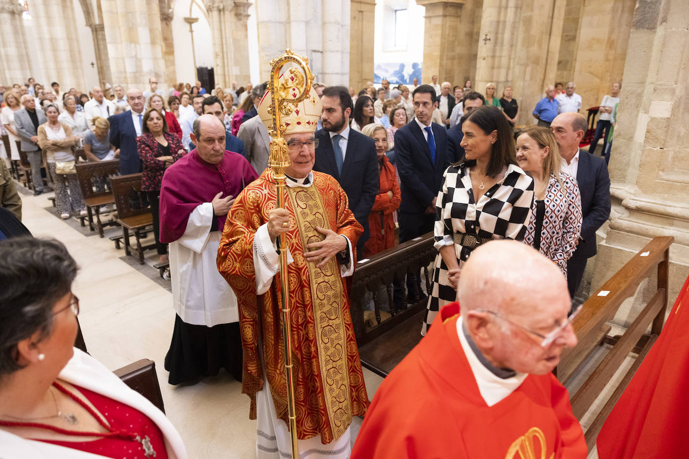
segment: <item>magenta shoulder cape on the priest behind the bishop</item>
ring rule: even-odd
[[[167,168],[161,184],[161,242],[169,244],[182,237],[187,229],[189,215],[199,204],[212,202],[215,195],[220,198],[240,191],[256,180],[256,171],[249,161],[234,151],[225,150],[225,156],[218,164],[205,162],[198,151],[189,151],[180,160]],[[218,231],[225,228],[225,215],[218,215]]]

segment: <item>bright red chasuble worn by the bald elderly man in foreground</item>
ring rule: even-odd
[[[586,441],[567,389],[529,375],[489,407],[460,339],[455,301],[384,379],[351,459],[585,459]]]

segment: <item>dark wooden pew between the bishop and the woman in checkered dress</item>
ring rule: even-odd
[[[433,233],[427,233],[377,253],[369,261],[356,266],[351,288],[351,318],[361,363],[372,372],[387,376],[421,340],[421,325],[427,301],[422,299],[406,309],[395,310],[392,304],[392,282],[395,274],[404,279],[405,274],[417,273],[421,268],[426,280],[426,292],[430,295],[431,282],[427,266],[437,254],[438,250],[433,247]],[[382,286],[387,290],[391,306],[391,317],[384,321],[380,318],[380,301],[376,295]],[[364,295],[367,291],[374,294],[377,322],[369,330],[364,325]]]

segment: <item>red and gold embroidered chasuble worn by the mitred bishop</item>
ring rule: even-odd
[[[325,239],[316,231],[320,226],[349,238],[350,256],[356,259],[353,250],[363,228],[349,210],[347,195],[338,182],[324,173],[312,174],[310,186],[285,187],[285,209],[291,214],[291,231],[285,233],[285,239],[294,260],[287,270],[298,438],[320,434],[327,444],[340,438],[352,416],[364,415],[368,397],[337,257],[318,268],[316,263],[305,261],[303,253],[307,244]],[[256,392],[263,388],[258,354],[261,343],[276,414],[289,425],[280,279],[274,277],[269,290],[256,295],[254,266],[254,237],[267,222],[276,200],[274,174],[266,169],[232,205],[218,248],[218,270],[239,302],[242,392],[251,398],[249,418],[256,419]],[[275,249],[271,246],[270,250]]]

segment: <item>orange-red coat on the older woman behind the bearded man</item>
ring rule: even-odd
[[[369,213],[371,237],[364,243],[364,257],[370,257],[395,245],[393,212],[400,207],[400,202],[402,202],[395,167],[390,164],[387,156],[383,156],[379,163],[381,164],[380,192]],[[388,191],[392,191],[392,198],[389,197]]]

